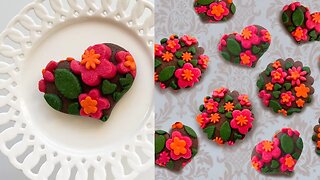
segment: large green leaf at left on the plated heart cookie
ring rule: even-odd
[[[68,99],[77,99],[82,92],[78,78],[67,69],[56,69],[54,74],[58,91]]]

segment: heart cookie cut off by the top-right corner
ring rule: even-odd
[[[320,41],[320,12],[294,2],[282,10],[282,23],[297,43]]]

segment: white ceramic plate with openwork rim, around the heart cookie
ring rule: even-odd
[[[0,35],[0,149],[31,179],[132,179],[153,165],[153,4],[37,0]],[[137,77],[106,123],[62,114],[37,90],[50,60],[111,42]]]

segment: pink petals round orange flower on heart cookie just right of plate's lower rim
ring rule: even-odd
[[[181,141],[185,142],[185,146],[184,146],[184,148],[186,149],[186,153],[185,154],[180,153],[179,155],[176,155],[174,153],[174,149],[171,148],[171,144],[174,143],[174,140],[176,138],[178,140],[181,140]],[[174,131],[172,133],[171,138],[168,139],[167,142],[166,142],[166,147],[170,151],[170,157],[173,160],[178,160],[180,158],[189,159],[191,157],[191,149],[190,149],[191,146],[192,146],[191,139],[188,136],[182,136],[182,134],[180,132],[178,132],[178,131]]]

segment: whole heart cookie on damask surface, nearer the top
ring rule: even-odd
[[[251,25],[244,28],[241,34],[223,35],[218,48],[225,60],[253,68],[268,50],[270,43],[271,36],[267,29]]]

